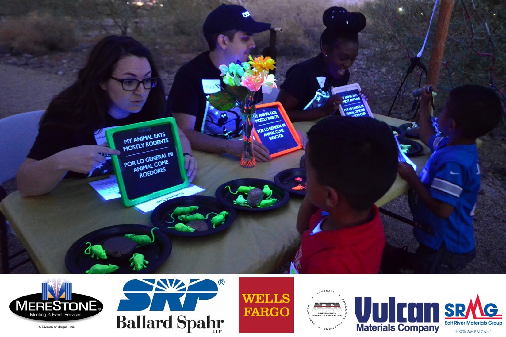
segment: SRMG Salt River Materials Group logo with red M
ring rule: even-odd
[[[487,302],[484,302],[483,305],[479,295],[476,295],[474,302],[473,298],[470,298],[467,306],[463,303],[447,303],[444,308],[445,325],[466,328],[461,331],[457,330],[460,332],[485,333],[490,330],[476,330],[476,325],[480,325],[482,328],[502,325],[502,314],[499,314],[497,306]]]

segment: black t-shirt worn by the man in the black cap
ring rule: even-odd
[[[194,130],[210,136],[230,139],[242,134],[242,120],[237,106],[220,111],[209,104],[209,94],[220,91],[224,86],[217,69],[203,52],[179,68],[171,92],[168,94],[168,111],[196,117]],[[255,103],[262,101],[263,94],[255,94]]]

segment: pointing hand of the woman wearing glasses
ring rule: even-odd
[[[57,154],[59,169],[77,173],[90,173],[100,164],[105,163],[106,155],[119,155],[116,149],[101,145],[81,145],[67,148]]]

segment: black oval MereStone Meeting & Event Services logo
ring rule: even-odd
[[[49,279],[41,283],[41,292],[19,297],[9,309],[21,317],[40,321],[72,321],[88,318],[102,311],[98,299],[72,292],[72,283]]]

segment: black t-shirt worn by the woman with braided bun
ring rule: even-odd
[[[299,100],[294,109],[307,110],[323,106],[330,97],[330,87],[345,86],[349,80],[349,70],[340,79],[327,77],[323,72],[323,55],[319,54],[290,67],[280,88]]]

